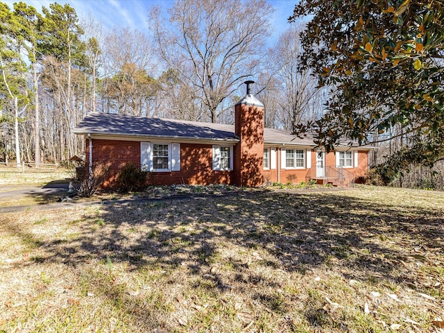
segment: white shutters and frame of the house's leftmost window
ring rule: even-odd
[[[168,169],[154,169],[153,145],[162,144],[168,146]],[[165,142],[141,142],[140,164],[144,171],[169,172],[180,171],[180,144]]]

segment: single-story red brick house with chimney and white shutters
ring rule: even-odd
[[[152,185],[230,185],[265,182],[352,182],[368,171],[372,147],[343,145],[336,153],[314,150],[309,138],[264,128],[264,105],[250,93],[234,107],[234,125],[89,113],[74,129],[86,138],[89,165],[110,165],[112,187],[128,162],[151,171]]]

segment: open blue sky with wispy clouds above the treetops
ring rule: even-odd
[[[20,0],[0,0],[7,3],[12,8],[13,3]],[[146,32],[148,30],[146,19],[151,6],[161,6],[169,8],[173,0],[21,0],[28,5],[35,7],[41,12],[42,6],[49,8],[50,3],[69,3],[78,17],[92,16],[98,22],[102,22],[105,28],[137,28]],[[205,1],[205,0],[203,0]],[[268,46],[272,46],[278,40],[281,33],[288,27],[287,18],[293,13],[294,5],[298,0],[268,0],[268,3],[275,8],[271,24],[274,31],[268,39]]]

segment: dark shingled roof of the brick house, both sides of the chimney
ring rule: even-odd
[[[123,135],[134,137],[165,137],[173,139],[198,139],[238,142],[234,125],[203,123],[150,117],[136,117],[124,114],[92,112],[74,128],[77,134]],[[286,130],[264,128],[264,144],[287,144],[314,146],[309,136],[296,137]],[[345,147],[346,144],[341,146]],[[365,146],[363,148],[371,148]]]

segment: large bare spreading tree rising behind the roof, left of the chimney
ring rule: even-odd
[[[167,24],[159,8],[151,10],[160,58],[177,69],[177,79],[193,90],[212,122],[239,83],[256,74],[272,12],[264,0],[177,0]]]

